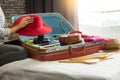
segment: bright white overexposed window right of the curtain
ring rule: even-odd
[[[120,26],[119,0],[78,0],[80,25]]]

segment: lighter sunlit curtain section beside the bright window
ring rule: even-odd
[[[77,0],[53,0],[53,10],[62,14],[74,29],[79,29]]]

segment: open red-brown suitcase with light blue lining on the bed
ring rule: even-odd
[[[66,34],[71,30],[74,30],[72,25],[59,13],[37,13],[37,15],[41,16],[43,22],[51,26],[53,29],[51,33],[45,35],[45,37],[50,40],[53,39],[54,34]],[[20,16],[12,17],[12,21],[14,22]],[[29,51],[30,57],[42,61],[52,61],[84,56],[96,53],[104,47],[104,43],[101,41],[70,44],[51,49],[39,49],[38,47],[33,47],[24,43],[25,40],[30,40],[35,37],[37,36],[28,37],[19,35],[19,38],[22,40],[21,44]]]

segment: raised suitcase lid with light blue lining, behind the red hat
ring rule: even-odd
[[[35,14],[41,16],[43,22],[49,25],[53,30],[51,33],[45,35],[46,38],[52,38],[54,34],[65,34],[73,30],[73,26],[59,13],[35,13]],[[14,22],[20,16],[23,15],[13,16],[12,22]],[[21,40],[37,37],[37,36],[21,36],[21,35],[19,36]]]

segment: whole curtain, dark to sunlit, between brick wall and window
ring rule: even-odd
[[[77,0],[26,0],[27,13],[58,12],[74,29],[78,26]]]

